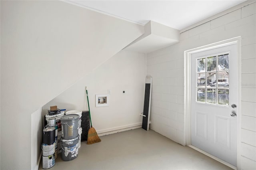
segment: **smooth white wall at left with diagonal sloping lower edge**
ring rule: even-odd
[[[30,146],[40,145],[31,140],[32,122],[40,117],[38,108],[141,36],[144,29],[58,0],[0,3],[0,169],[31,169],[35,160]]]

